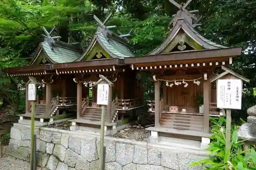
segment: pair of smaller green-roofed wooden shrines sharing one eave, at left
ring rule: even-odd
[[[125,39],[128,35],[112,32],[115,26],[104,26],[109,17],[101,22],[95,16],[99,27],[86,50],[56,40],[59,37],[51,37],[52,31],[44,29],[46,39],[39,44],[30,65],[5,69],[7,76],[27,80],[32,76],[40,82],[37,86],[42,94],[36,101],[36,120],[52,122],[73,116],[75,111],[77,118],[71,120],[72,125],[100,127],[101,108],[96,104],[94,86],[99,75],[114,84],[105,119],[107,127],[121,125],[126,113],[143,106],[143,89],[137,85],[136,71],[124,65],[124,58],[134,57]],[[30,112],[27,100],[26,113],[20,118],[29,119]]]

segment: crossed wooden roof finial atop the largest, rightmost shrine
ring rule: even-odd
[[[175,5],[180,9],[177,12],[177,14],[173,15],[174,18],[172,19],[172,21],[170,21],[170,23],[173,23],[173,25],[175,25],[179,18],[184,18],[188,21],[188,23],[190,23],[192,27],[201,25],[201,24],[198,24],[198,22],[202,17],[201,16],[197,17],[196,15],[193,14],[198,12],[198,10],[188,11],[186,9],[186,7],[191,3],[191,1],[193,0],[188,0],[186,3],[179,4],[175,0],[169,0],[170,3],[172,3],[173,5]],[[194,19],[194,22],[193,22],[193,19]]]

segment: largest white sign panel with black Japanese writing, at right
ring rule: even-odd
[[[217,80],[217,107],[222,109],[240,109],[242,105],[242,80]]]

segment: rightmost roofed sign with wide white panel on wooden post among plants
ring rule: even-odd
[[[217,80],[217,108],[226,109],[225,153],[228,153],[231,149],[231,109],[241,110],[243,81],[247,83],[250,81],[224,66],[222,69],[225,72],[212,79],[211,82]]]

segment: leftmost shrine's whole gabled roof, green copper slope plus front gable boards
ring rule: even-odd
[[[74,45],[55,41],[54,45],[50,45],[47,41],[41,42],[38,46],[35,58],[32,60],[31,65],[33,65],[38,58],[40,58],[40,53],[45,53],[45,59],[49,63],[69,63],[74,62],[81,56],[81,50]]]

